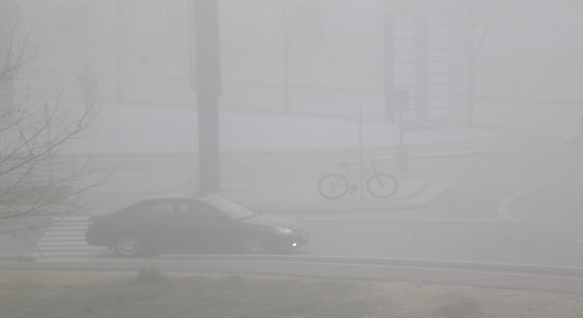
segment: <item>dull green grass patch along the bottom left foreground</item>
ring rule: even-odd
[[[370,306],[347,299],[354,283],[342,280],[251,280],[191,276],[170,279],[156,267],[97,286],[39,291],[20,286],[0,298],[5,318],[149,317],[363,317]]]

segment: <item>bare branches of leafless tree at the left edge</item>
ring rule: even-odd
[[[0,11],[3,14],[0,19],[10,17]],[[0,236],[28,242],[30,231],[84,209],[71,199],[103,180],[82,185],[80,181],[91,173],[88,163],[71,167],[62,154],[66,144],[90,133],[89,124],[97,116],[95,102],[76,115],[72,106],[58,101],[58,93],[49,109],[47,104],[32,103],[27,88],[5,89],[26,83],[23,67],[36,56],[36,46],[29,45],[30,33],[15,32],[17,23],[11,21],[3,30],[0,50],[0,102],[14,101],[0,103]]]

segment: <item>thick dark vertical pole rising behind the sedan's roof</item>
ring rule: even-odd
[[[199,186],[201,192],[220,190],[219,95],[220,41],[219,0],[194,1],[193,87],[199,95]]]

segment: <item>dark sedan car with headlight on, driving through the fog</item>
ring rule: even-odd
[[[119,255],[199,253],[285,253],[308,242],[297,221],[258,214],[217,195],[181,194],[147,199],[111,214],[89,215],[90,245]]]

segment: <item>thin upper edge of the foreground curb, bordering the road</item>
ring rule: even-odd
[[[281,263],[310,263],[310,264],[342,264],[365,265],[381,267],[411,267],[419,269],[448,269],[456,271],[478,271],[488,273],[515,273],[525,275],[556,275],[562,277],[576,277],[583,279],[583,268],[562,267],[547,265],[529,265],[520,263],[479,263],[462,261],[440,261],[420,259],[387,259],[387,258],[361,258],[342,256],[309,256],[309,255],[207,255],[207,254],[168,254],[159,255],[148,259],[107,259],[76,260],[76,261],[36,261],[30,262],[31,257],[9,259],[0,258],[0,269],[28,269],[28,270],[135,270],[144,265],[160,265],[166,271],[189,272],[188,263],[214,263],[217,272],[221,268],[229,267],[228,263],[267,264],[277,266]],[[206,267],[206,266],[205,266]],[[212,267],[212,266],[211,266]],[[251,266],[252,267],[252,266]],[[231,270],[232,271],[232,270]],[[199,272],[193,270],[192,272]],[[201,272],[212,272],[204,270]],[[234,271],[237,272],[237,271]]]

